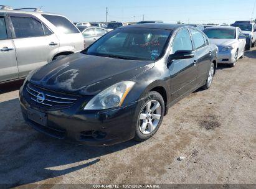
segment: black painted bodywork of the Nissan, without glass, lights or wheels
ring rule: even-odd
[[[169,61],[171,43],[176,32],[179,29],[190,28],[188,26],[143,24],[126,26],[121,29],[127,27],[173,30],[163,57],[156,62],[152,62],[120,60],[76,53],[60,60],[55,60],[35,71],[36,73],[27,78],[22,86],[20,94],[24,119],[32,127],[48,135],[51,135],[52,132],[45,131],[45,129],[64,129],[68,132],[67,136],[63,138],[72,138],[87,145],[111,145],[128,141],[135,135],[138,113],[143,103],[147,100],[145,95],[149,91],[156,90],[161,93],[167,112],[168,108],[173,104],[206,83],[212,62],[217,67],[217,47],[215,45],[207,45],[199,50],[194,50],[192,52],[194,53],[193,58]],[[79,74],[76,75],[78,72]],[[73,78],[74,75],[76,76]],[[65,83],[69,83],[70,79],[73,80],[72,83],[69,86],[65,85]],[[125,80],[135,81],[136,85],[126,96],[123,106],[100,111],[83,110],[85,103],[88,103],[95,94]],[[81,98],[70,108],[49,111],[40,108],[40,106],[33,106],[29,99],[26,98],[24,86],[26,86],[27,82],[47,90],[78,94]],[[60,83],[63,85],[60,85]],[[27,108],[34,108],[47,113],[51,124],[50,127],[41,127],[28,121]],[[107,133],[107,137],[104,139],[90,138],[81,140],[78,135],[82,131],[102,131]]]

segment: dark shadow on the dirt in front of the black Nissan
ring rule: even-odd
[[[11,188],[56,178],[90,167],[103,155],[129,148],[128,141],[109,147],[69,144],[34,131],[22,119],[19,99],[0,103],[0,183]],[[93,175],[92,175],[93,176]]]

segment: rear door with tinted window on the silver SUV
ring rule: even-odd
[[[19,78],[51,61],[59,52],[59,39],[39,19],[29,14],[9,14],[16,47]]]

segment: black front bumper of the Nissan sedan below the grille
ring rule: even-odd
[[[24,88],[20,90],[22,115],[29,126],[48,136],[85,145],[113,145],[135,136],[140,101],[121,108],[85,111],[82,97],[69,108],[49,111],[34,106]],[[45,113],[46,126],[28,119],[28,109]]]

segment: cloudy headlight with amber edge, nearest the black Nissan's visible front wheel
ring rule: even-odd
[[[83,109],[109,109],[121,106],[134,85],[133,81],[116,83],[93,97]]]

